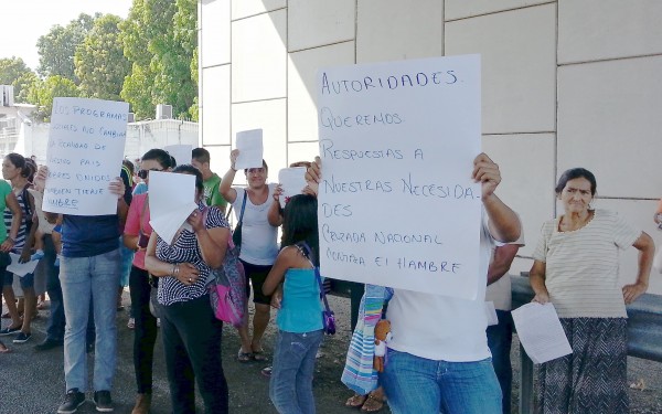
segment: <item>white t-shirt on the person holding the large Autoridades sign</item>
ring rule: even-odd
[[[483,283],[476,300],[396,289],[386,311],[393,332],[388,348],[435,361],[489,358],[484,297],[490,255],[496,243],[483,221],[479,263]]]

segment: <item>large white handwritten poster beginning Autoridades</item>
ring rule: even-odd
[[[480,56],[318,73],[324,276],[473,299]]]

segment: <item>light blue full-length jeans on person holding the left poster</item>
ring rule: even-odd
[[[64,379],[66,390],[87,390],[85,332],[93,300],[96,328],[94,391],[110,391],[117,359],[117,286],[119,250],[92,257],[62,257],[60,282],[64,299]]]

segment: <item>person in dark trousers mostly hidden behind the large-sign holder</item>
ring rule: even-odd
[[[495,246],[488,268],[488,291],[485,301],[491,301],[496,311],[496,325],[488,327],[488,347],[492,353],[492,365],[499,379],[502,394],[503,414],[511,412],[511,394],[513,369],[511,365],[511,347],[513,343],[514,322],[511,316],[512,291],[508,270],[521,246],[524,245],[524,232],[514,243]]]

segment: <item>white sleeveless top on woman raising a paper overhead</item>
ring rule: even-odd
[[[278,255],[278,229],[269,224],[267,214],[274,203],[274,190],[277,184],[268,184],[269,194],[267,201],[255,205],[250,198],[246,200],[244,222],[242,224],[242,253],[239,258],[253,265],[273,265]],[[232,203],[237,223],[242,214],[242,202],[244,201],[244,189],[235,188],[237,198]]]

